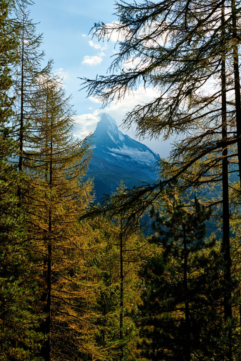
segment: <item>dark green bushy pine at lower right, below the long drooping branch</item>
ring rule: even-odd
[[[160,249],[141,272],[137,316],[141,355],[150,360],[223,360],[228,347],[220,312],[220,249],[214,239],[204,240],[211,209],[197,199],[192,208],[171,184],[161,216],[152,211],[156,234],[150,241]]]

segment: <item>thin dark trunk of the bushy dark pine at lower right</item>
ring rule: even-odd
[[[188,300],[188,253],[186,248],[186,227],[183,227],[184,244],[184,292],[185,292],[185,361],[191,361],[191,343],[190,343],[190,318],[189,318],[189,300]]]

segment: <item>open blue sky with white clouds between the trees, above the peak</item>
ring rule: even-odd
[[[86,99],[85,91],[79,91],[81,81],[78,77],[92,79],[96,74],[104,75],[111,64],[115,39],[98,43],[88,34],[95,22],[111,23],[117,20],[114,11],[113,0],[36,0],[31,6],[31,18],[36,23],[40,22],[36,27],[39,32],[43,32],[46,58],[54,60],[54,71],[64,77],[66,91],[73,95],[77,113],[76,135],[81,138],[95,130],[100,112],[111,114],[120,126],[126,111],[139,101],[151,100],[155,96],[154,90],[145,92],[141,87],[134,98],[125,98],[121,103],[99,110],[100,104],[94,99]],[[134,138],[133,132],[121,130]],[[168,155],[170,146],[167,143],[147,139],[141,142],[161,157]]]

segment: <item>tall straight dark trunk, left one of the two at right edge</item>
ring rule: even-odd
[[[225,14],[224,2],[222,4],[221,22],[222,37],[225,36]],[[224,42],[223,42],[224,45]],[[223,49],[221,62],[221,93],[222,93],[222,186],[223,186],[223,250],[224,250],[224,322],[232,318],[231,306],[231,255],[230,255],[230,235],[229,235],[229,193],[228,193],[228,149],[227,142],[227,102],[226,102],[226,69],[225,69],[225,51]],[[241,159],[241,158],[240,158]],[[232,361],[232,332],[231,327],[228,330],[228,354],[227,360]]]

